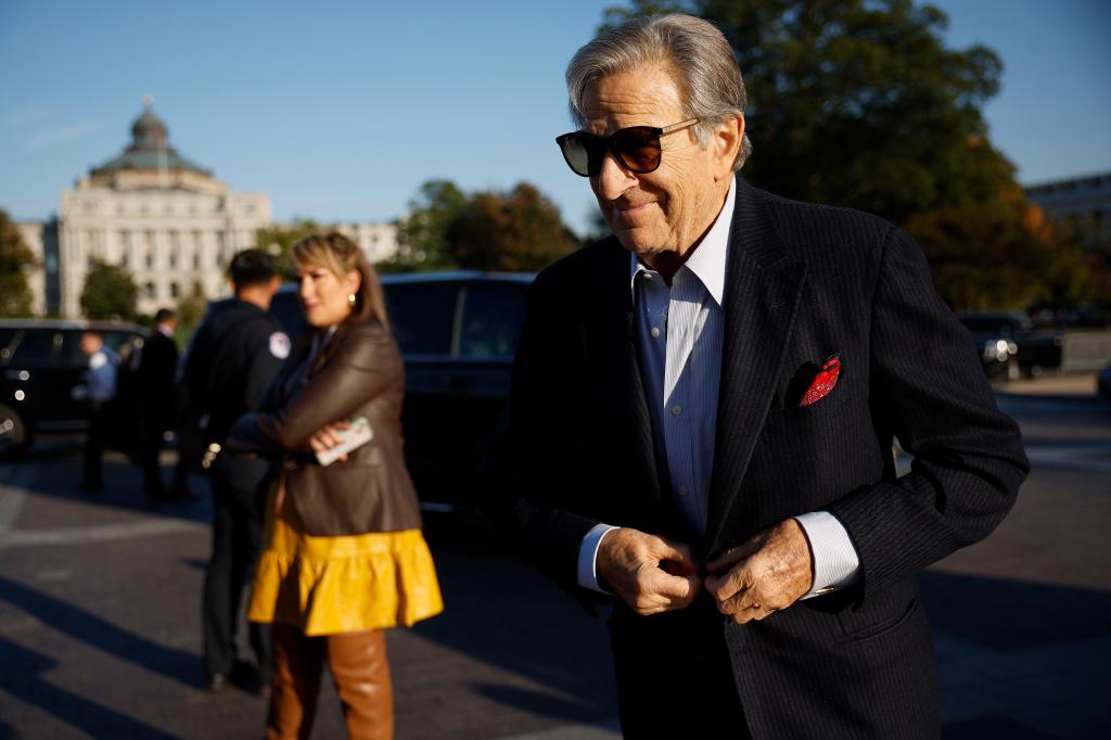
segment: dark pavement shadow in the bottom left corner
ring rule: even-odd
[[[173,740],[174,736],[108,709],[84,697],[54,686],[42,678],[56,663],[0,636],[0,656],[4,656],[4,670],[0,671],[0,689],[20,701],[92,737],[144,738]],[[12,670],[12,668],[18,668]],[[10,726],[0,723],[0,738],[16,738]]]

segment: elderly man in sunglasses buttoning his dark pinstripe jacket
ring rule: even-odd
[[[567,81],[558,142],[614,236],[529,293],[492,508],[615,597],[627,737],[937,737],[914,574],[1028,471],[971,339],[905,232],[735,174],[744,87],[710,23],[630,21]]]

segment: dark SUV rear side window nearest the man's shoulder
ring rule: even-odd
[[[463,298],[459,354],[512,357],[524,318],[526,286],[471,283]]]

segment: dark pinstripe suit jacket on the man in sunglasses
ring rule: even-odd
[[[530,291],[510,402],[486,461],[491,506],[572,590],[579,542],[598,521],[709,557],[793,514],[832,512],[860,556],[859,584],[725,628],[752,732],[937,733],[913,577],[1002,520],[1028,471],[1018,429],[905,232],[740,178],[737,188],[709,532],[682,530],[658,470],[629,256],[614,238],[544,270]],[[838,386],[798,406],[800,378],[833,353]],[[915,458],[903,478],[892,437]]]

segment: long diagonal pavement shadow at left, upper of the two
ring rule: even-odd
[[[51,629],[64,632],[96,650],[112,653],[120,660],[161,673],[187,687],[193,687],[193,682],[189,678],[201,676],[200,656],[152,642],[144,637],[120,629],[91,611],[61,601],[3,576],[0,576],[0,601],[6,601],[12,607],[21,609],[36,620],[49,624]],[[20,648],[20,650],[23,649]],[[0,651],[0,654],[14,656],[16,653]],[[41,670],[38,663],[24,667],[18,659],[6,658],[4,670],[0,671],[0,686],[4,686],[3,681],[8,680],[3,677],[31,673],[37,668]],[[36,703],[39,702],[36,701]],[[47,704],[47,707],[49,706]]]

